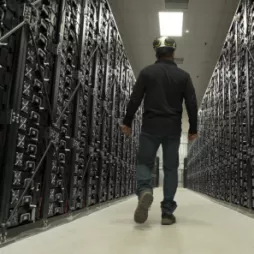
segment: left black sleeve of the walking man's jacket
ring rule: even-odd
[[[144,95],[145,95],[145,82],[144,76],[141,72],[136,81],[136,84],[133,87],[133,91],[130,96],[130,101],[127,105],[126,115],[123,119],[124,125],[131,127],[134,116],[144,98]]]

